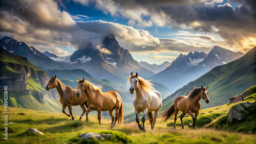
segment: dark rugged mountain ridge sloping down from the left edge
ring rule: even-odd
[[[0,39],[0,48],[12,54],[23,56],[27,58],[36,67],[49,71],[51,69],[67,69],[66,64],[62,64],[50,59],[33,46],[27,45],[25,42],[18,42],[10,37],[3,37]]]

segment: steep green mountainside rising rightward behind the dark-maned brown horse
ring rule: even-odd
[[[221,50],[218,47],[218,50]],[[216,53],[214,53],[216,54]],[[224,53],[226,55],[226,53]],[[230,54],[231,55],[231,54]],[[223,55],[222,55],[223,56]],[[222,56],[218,56],[220,59]],[[219,59],[218,58],[218,59]],[[227,60],[226,60],[227,61]],[[208,73],[175,91],[163,100],[167,104],[179,95],[188,95],[194,87],[207,87],[210,103],[201,100],[201,108],[215,107],[229,102],[229,98],[238,95],[256,85],[256,46],[241,58],[212,68]]]

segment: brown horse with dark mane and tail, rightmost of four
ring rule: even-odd
[[[177,114],[179,111],[182,112],[180,115],[180,121],[181,121],[181,127],[184,129],[182,118],[188,113],[192,119],[193,124],[189,124],[188,127],[195,129],[197,116],[201,107],[200,100],[201,98],[205,100],[205,103],[208,104],[210,102],[208,98],[208,89],[209,86],[206,88],[198,87],[194,88],[193,91],[190,91],[188,97],[180,95],[175,99],[174,105],[172,105],[168,110],[166,110],[164,113],[162,113],[161,117],[164,119],[164,121],[167,121],[167,119],[174,117],[174,128],[176,128],[176,120],[177,120]],[[193,115],[195,113],[195,116]]]

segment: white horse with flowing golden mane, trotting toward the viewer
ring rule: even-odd
[[[134,75],[131,73],[131,76],[127,80],[127,83],[131,83],[130,92],[131,94],[136,91],[136,95],[133,100],[133,105],[135,108],[136,122],[139,126],[139,129],[142,132],[145,132],[145,115],[148,114],[148,118],[150,119],[151,129],[154,129],[156,124],[156,118],[158,112],[162,106],[162,95],[157,90],[153,90],[153,84],[150,81],[146,81],[142,77],[138,77],[138,73]],[[155,111],[155,115],[153,118],[152,112]],[[140,112],[143,112],[143,116],[141,118],[142,127],[140,125],[139,115]]]

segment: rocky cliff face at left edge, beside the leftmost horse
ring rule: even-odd
[[[44,97],[58,97],[56,89],[52,89],[51,91],[31,91],[29,89],[28,79],[34,79],[42,88],[46,87],[50,80],[50,77],[47,73],[45,73],[45,71],[35,70],[26,65],[16,63],[1,63],[1,65],[6,65],[6,68],[8,67],[10,68],[9,70],[13,70],[13,73],[1,71],[1,87],[7,85],[9,91],[20,92],[24,95],[32,94],[33,97],[41,104],[44,103]]]

